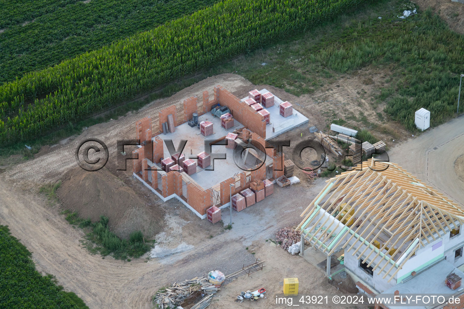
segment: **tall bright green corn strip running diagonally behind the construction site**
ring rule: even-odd
[[[0,144],[32,139],[365,0],[227,0],[0,87]]]

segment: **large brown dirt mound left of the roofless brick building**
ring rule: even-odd
[[[96,172],[80,167],[70,170],[64,175],[57,195],[63,208],[77,211],[80,217],[95,222],[100,215],[107,216],[111,231],[122,238],[127,238],[135,230],[152,238],[164,225],[160,208],[148,206],[106,168]]]

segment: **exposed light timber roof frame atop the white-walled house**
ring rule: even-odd
[[[369,159],[327,182],[297,228],[327,255],[353,251],[388,281],[420,247],[464,221],[458,204],[391,162]],[[330,215],[316,215],[320,209]],[[340,231],[343,214],[352,215]]]

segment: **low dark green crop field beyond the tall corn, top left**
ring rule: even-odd
[[[0,83],[58,64],[219,0],[2,2]],[[20,5],[19,5],[20,4]],[[33,22],[31,22],[33,20]],[[30,22],[23,25],[24,22]]]

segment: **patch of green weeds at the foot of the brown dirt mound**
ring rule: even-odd
[[[99,252],[101,255],[112,255],[115,259],[127,260],[129,258],[139,258],[151,249],[155,241],[146,240],[141,231],[134,231],[129,234],[129,239],[124,240],[116,236],[108,227],[108,218],[100,216],[100,221],[92,223],[90,219],[80,218],[76,212],[65,210],[66,220],[81,228],[87,228],[87,243],[84,245],[92,253]],[[89,243],[90,241],[90,243]],[[130,259],[128,260],[130,261]]]

